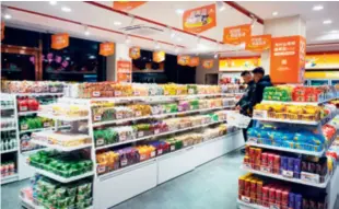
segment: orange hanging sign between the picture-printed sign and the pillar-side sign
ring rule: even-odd
[[[223,43],[232,45],[247,43],[250,38],[250,24],[224,27]]]

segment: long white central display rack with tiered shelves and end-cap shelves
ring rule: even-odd
[[[69,105],[81,105],[82,107],[87,107],[87,115],[86,116],[77,116],[77,117],[68,117],[68,116],[57,116],[52,113],[42,113],[38,114],[42,117],[49,117],[56,120],[67,120],[73,121],[87,121],[87,135],[91,138],[90,143],[81,143],[75,147],[63,147],[58,144],[51,144],[47,141],[43,140],[34,140],[35,143],[46,146],[51,149],[56,149],[60,152],[77,152],[81,150],[89,154],[89,159],[93,162],[93,171],[86,172],[81,175],[75,175],[72,177],[61,177],[46,171],[44,169],[37,169],[36,166],[34,170],[49,178],[52,178],[60,183],[72,183],[74,181],[79,181],[82,178],[93,177],[93,206],[95,208],[109,208],[113,207],[121,201],[125,201],[138,194],[141,194],[145,190],[149,190],[155,187],[159,184],[162,184],[168,179],[172,179],[176,176],[179,176],[184,173],[192,171],[195,167],[213,160],[218,156],[221,156],[234,149],[237,149],[244,144],[243,137],[238,130],[235,128],[230,128],[227,133],[223,133],[213,139],[208,139],[203,141],[199,141],[199,143],[191,142],[190,144],[182,144],[180,149],[176,149],[177,147],[171,146],[171,149],[165,153],[165,150],[156,149],[153,150],[148,154],[147,160],[141,160],[142,156],[140,154],[140,162],[136,162],[126,166],[127,161],[124,159],[119,159],[118,161],[118,169],[112,167],[110,165],[103,165],[97,163],[98,153],[108,150],[115,150],[115,148],[119,149],[124,148],[124,144],[132,144],[139,146],[144,144],[148,140],[152,140],[159,137],[168,137],[175,136],[177,133],[182,133],[189,130],[202,130],[203,127],[211,127],[213,125],[223,124],[225,123],[225,117],[219,118],[218,120],[209,120],[203,124],[199,125],[190,125],[185,128],[179,128],[175,130],[166,130],[164,132],[159,131],[157,129],[152,130],[153,132],[150,135],[145,135],[145,132],[138,131],[133,138],[129,140],[122,140],[126,138],[125,135],[119,135],[120,141],[115,141],[110,144],[104,144],[97,147],[100,139],[95,138],[94,131],[96,129],[101,129],[106,126],[115,127],[117,124],[124,124],[128,121],[132,121],[133,124],[138,124],[138,121],[142,119],[155,119],[155,118],[165,118],[165,117],[178,117],[185,115],[200,115],[201,113],[212,113],[213,111],[220,109],[230,109],[234,107],[234,95],[227,94],[227,96],[232,96],[229,100],[233,101],[232,105],[223,105],[223,106],[214,106],[209,108],[199,108],[192,111],[179,111],[174,113],[162,113],[155,115],[148,115],[148,116],[137,116],[130,118],[115,118],[113,120],[107,121],[97,121],[102,116],[96,115],[93,113],[92,106],[97,102],[113,102],[117,105],[125,106],[126,104],[138,104],[140,102],[145,104],[156,104],[156,103],[164,103],[165,101],[174,102],[180,100],[189,100],[189,98],[213,98],[213,97],[221,97],[225,96],[225,94],[196,94],[196,95],[178,95],[178,96],[132,96],[132,97],[112,97],[112,98],[67,98],[62,97],[59,98],[60,104],[69,104]],[[39,132],[38,136],[42,138],[48,137],[51,135],[50,131]],[[116,164],[114,164],[115,166]],[[110,171],[108,171],[110,169]],[[112,188],[117,191],[117,194],[112,193]],[[32,202],[27,199],[24,195],[21,196],[22,202],[25,207],[28,208],[37,208],[39,202]]]

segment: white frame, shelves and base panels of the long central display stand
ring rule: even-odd
[[[214,97],[220,96],[221,94],[215,95],[188,95],[187,97]],[[227,94],[229,95],[229,94]],[[130,102],[138,102],[140,100],[147,101],[147,103],[161,103],[164,101],[164,98],[171,100],[182,100],[184,96],[143,96],[143,97],[113,97],[113,98],[67,98],[61,97],[59,98],[59,103],[69,104],[69,105],[82,105],[86,106],[89,111],[87,117],[67,117],[67,116],[56,116],[50,113],[39,113],[38,116],[43,117],[49,117],[56,120],[67,120],[67,121],[77,121],[77,120],[86,120],[87,121],[87,128],[89,128],[89,136],[91,137],[91,146],[83,144],[74,148],[65,148],[60,146],[51,146],[46,144],[43,142],[39,142],[37,140],[33,140],[34,142],[46,146],[50,149],[56,149],[62,152],[75,152],[81,149],[91,150],[89,153],[91,153],[91,160],[94,165],[94,170],[91,173],[86,173],[80,176],[74,176],[71,178],[60,178],[57,175],[54,175],[47,171],[43,171],[39,169],[34,169],[37,173],[42,175],[46,175],[57,182],[62,183],[70,183],[72,181],[77,181],[80,178],[89,177],[93,175],[93,206],[94,208],[109,208],[113,207],[121,201],[125,201],[136,195],[139,195],[145,190],[149,190],[153,187],[155,187],[159,184],[162,184],[168,179],[172,179],[176,176],[179,176],[182,174],[185,174],[189,171],[192,171],[195,167],[211,161],[215,158],[219,158],[227,152],[233,151],[234,149],[237,149],[244,144],[243,137],[241,131],[238,130],[231,130],[230,133],[220,136],[207,141],[203,141],[201,143],[184,147],[179,150],[173,150],[166,154],[157,155],[154,158],[151,158],[145,161],[138,162],[136,164],[128,165],[126,167],[121,167],[115,171],[107,172],[105,174],[98,174],[101,170],[104,167],[101,167],[96,163],[96,152],[101,151],[103,149],[121,146],[126,143],[136,144],[137,141],[142,141],[151,138],[155,138],[159,136],[171,136],[173,133],[178,133],[184,131],[184,129],[167,131],[167,132],[160,132],[156,135],[151,135],[148,137],[140,137],[135,140],[128,140],[128,141],[121,141],[116,142],[112,144],[107,144],[106,147],[95,147],[94,142],[94,129],[98,127],[100,125],[114,125],[119,124],[121,121],[135,121],[139,119],[144,118],[154,118],[155,116],[145,116],[140,118],[128,118],[124,120],[117,120],[117,121],[93,121],[93,118],[95,117],[92,113],[92,104],[93,102],[102,102],[102,101],[108,101],[114,102],[117,104],[120,103],[130,103]],[[231,98],[234,100],[234,98]],[[180,112],[180,115],[185,114],[199,114],[213,111],[213,109],[223,109],[223,108],[230,108],[232,106],[224,106],[224,107],[215,107],[215,108],[209,108],[209,109],[199,109],[199,111],[188,111]],[[163,115],[156,115],[157,117],[166,117],[172,116],[176,117],[179,115],[179,113],[173,113],[173,114],[163,114]],[[210,124],[204,124],[200,126],[192,126],[185,130],[195,130],[200,129],[202,127],[208,127],[210,125],[214,124],[221,124],[224,120],[220,121],[213,121]],[[42,136],[48,136],[50,131],[43,131],[38,135]],[[203,153],[203,154],[202,154]],[[112,188],[114,187],[114,190],[117,191],[114,194],[112,191]],[[27,199],[23,198],[23,205],[27,205],[30,201]],[[36,208],[36,207],[34,207]]]

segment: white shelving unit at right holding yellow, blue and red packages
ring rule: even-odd
[[[300,102],[276,102],[276,101],[262,101],[264,104],[290,104],[290,105],[313,105],[313,106],[317,106],[320,104],[324,104],[328,101],[330,101],[332,98],[329,100],[324,100],[320,102],[316,102],[316,103],[300,103]],[[256,112],[254,113],[254,118],[255,120],[258,121],[257,126],[259,125],[259,123],[278,123],[278,124],[295,124],[299,126],[306,126],[309,129],[316,129],[318,132],[323,132],[322,130],[322,126],[327,123],[329,119],[331,119],[332,116],[328,116],[324,119],[322,119],[320,121],[305,121],[305,120],[290,120],[290,119],[276,119],[276,118],[267,118],[267,113],[262,113],[261,111],[259,111],[257,113],[260,117],[256,117]],[[264,116],[264,117],[261,117]],[[337,130],[338,133],[338,130]],[[337,133],[335,133],[334,138],[330,140],[330,143],[336,139]],[[276,146],[270,146],[270,144],[262,144],[262,143],[257,143],[258,139],[257,138],[250,138],[248,139],[248,141],[246,142],[247,146],[249,147],[256,147],[256,148],[265,148],[265,149],[269,149],[269,150],[278,150],[278,151],[283,151],[283,152],[290,152],[290,153],[296,153],[296,154],[302,154],[302,155],[311,155],[311,156],[324,156],[326,151],[327,151],[327,147],[324,148],[324,150],[322,151],[308,151],[308,150],[300,150],[300,149],[291,149],[291,148],[283,148],[283,147],[276,147]],[[312,187],[317,187],[319,189],[325,189],[327,191],[327,198],[328,198],[328,208],[331,209],[335,205],[336,201],[336,197],[334,197],[334,193],[337,194],[338,189],[332,188],[331,185],[331,177],[334,175],[336,175],[336,172],[338,171],[338,167],[334,170],[334,174],[328,174],[325,178],[324,183],[314,183],[314,182],[306,182],[302,178],[293,178],[293,177],[285,177],[281,174],[277,174],[277,173],[270,173],[270,172],[266,172],[266,171],[261,171],[261,170],[255,170],[252,167],[250,164],[243,164],[241,166],[242,170],[248,172],[248,173],[253,173],[253,174],[257,174],[260,176],[266,176],[266,177],[270,177],[270,178],[274,178],[274,179],[280,179],[283,182],[289,182],[289,183],[294,183],[294,184],[300,184],[300,185],[306,185],[306,186],[312,186]],[[264,207],[260,205],[256,205],[256,204],[250,204],[250,198],[249,197],[245,197],[242,196],[243,199],[237,199],[237,204],[239,206],[239,208],[242,209],[269,209],[269,208],[274,208],[273,206],[271,207]]]

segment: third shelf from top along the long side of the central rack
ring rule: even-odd
[[[214,124],[219,124],[219,123],[223,123],[223,121],[226,121],[226,120],[212,121],[212,123],[209,123],[209,124],[202,124],[202,125],[199,125],[199,126],[194,126],[194,127],[188,127],[188,128],[182,128],[182,129],[177,129],[177,130],[161,132],[161,133],[157,133],[157,135],[150,135],[150,136],[141,137],[141,138],[138,138],[138,139],[120,141],[120,142],[117,142],[117,143],[112,143],[112,144],[107,144],[107,146],[103,146],[103,147],[97,147],[95,149],[96,150],[103,150],[103,149],[113,148],[113,147],[117,147],[117,146],[121,146],[121,144],[126,144],[126,143],[131,143],[131,142],[136,142],[136,141],[142,141],[142,140],[145,140],[145,139],[151,139],[151,138],[161,137],[161,136],[165,136],[165,135],[182,132],[182,131],[185,131],[185,130],[191,130],[191,129],[196,129],[196,128],[201,128],[201,127],[206,127],[206,126],[210,126],[210,125],[214,125]]]

